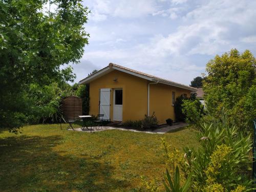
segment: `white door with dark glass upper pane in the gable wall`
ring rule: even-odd
[[[114,89],[113,120],[123,120],[123,90]]]

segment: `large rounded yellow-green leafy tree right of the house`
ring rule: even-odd
[[[240,54],[236,49],[207,63],[203,89],[209,116],[218,119],[224,110],[229,124],[235,123],[243,132],[252,127],[256,116],[255,65],[250,51]]]

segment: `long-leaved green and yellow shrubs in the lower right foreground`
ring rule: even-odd
[[[169,159],[172,166],[180,166],[183,173],[192,174],[193,191],[241,191],[252,189],[250,135],[244,136],[237,126],[229,126],[227,117],[215,123],[203,123],[197,135],[201,147],[184,148],[184,159],[179,154]],[[176,162],[175,162],[176,161]],[[168,160],[166,161],[168,163]],[[173,176],[174,177],[174,176]],[[188,176],[185,176],[188,178]],[[182,176],[180,177],[183,178]]]

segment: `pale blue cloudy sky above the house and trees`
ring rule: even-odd
[[[232,48],[256,56],[254,0],[88,0],[89,45],[75,82],[110,62],[183,84]]]

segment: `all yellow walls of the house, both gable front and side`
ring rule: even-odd
[[[117,79],[117,82],[114,81]],[[123,89],[123,121],[143,119],[147,114],[147,83],[149,81],[114,70],[90,82],[90,115],[99,113],[99,89],[110,88],[111,113],[113,120],[113,89]],[[152,84],[150,86],[150,115],[155,112],[159,123],[165,123],[167,118],[175,120],[174,106],[172,106],[172,92],[176,97],[190,91],[168,86],[165,84]]]

